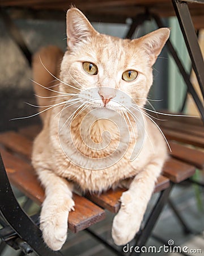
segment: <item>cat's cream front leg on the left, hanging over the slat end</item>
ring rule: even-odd
[[[40,214],[42,237],[51,249],[59,250],[66,241],[69,212],[74,210],[73,184],[52,171],[38,174],[46,196]]]

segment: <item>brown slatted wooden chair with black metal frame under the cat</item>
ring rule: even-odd
[[[145,245],[160,212],[168,201],[172,185],[189,179],[194,174],[196,168],[204,167],[204,153],[202,151],[178,143],[184,142],[193,146],[203,147],[204,131],[202,122],[199,119],[169,117],[169,121],[160,122],[160,125],[169,140],[172,152],[164,165],[163,174],[159,177],[158,182],[155,185],[155,192],[160,193],[158,201],[151,210],[144,228],[137,234],[135,239],[136,245],[138,246]],[[1,155],[11,184],[15,185],[16,188],[37,204],[41,204],[44,200],[44,191],[37,180],[30,160],[32,140],[35,138],[36,134],[39,133],[39,130],[40,126],[33,125],[23,127],[18,131],[7,131],[0,134]],[[3,167],[1,169],[1,177],[3,177]],[[3,179],[1,179],[1,181],[2,180]],[[1,182],[0,185],[0,209],[9,224],[5,224],[4,228],[0,230],[0,237],[12,247],[15,245],[24,251],[34,250],[39,255],[45,255],[45,251],[46,253],[49,251],[49,255],[59,255],[57,254],[58,252],[51,252],[41,241],[41,233],[36,225],[39,224],[38,216],[31,217],[31,220],[36,223],[33,224],[32,222],[32,225],[35,226],[35,228],[28,228],[32,236],[31,234],[28,236],[28,231],[26,231],[27,226],[24,222],[19,220],[19,215],[17,219],[10,221],[10,218],[15,216],[16,205],[14,204],[12,195],[10,195],[10,189],[8,188],[9,184],[2,184]],[[5,187],[5,191],[3,191],[3,186]],[[115,249],[107,241],[104,241],[88,229],[96,222],[103,221],[105,218],[104,209],[113,213],[118,212],[120,209],[120,196],[122,192],[124,192],[124,189],[118,188],[114,191],[109,190],[101,195],[87,194],[79,196],[75,193],[75,211],[70,212],[69,229],[75,233],[86,229],[87,232],[107,245],[109,249],[114,251],[114,253],[123,255],[120,250]],[[7,197],[6,200],[5,197]],[[30,224],[31,223],[29,222],[28,226]],[[24,228],[26,226],[23,234],[21,233],[21,230],[19,231],[19,226],[21,225],[24,226]],[[38,237],[40,239],[40,241],[38,241],[38,243],[41,244],[40,249],[39,246],[36,246],[35,242],[33,242],[33,240],[35,240],[33,237]]]

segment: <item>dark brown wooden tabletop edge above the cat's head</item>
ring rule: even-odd
[[[69,9],[70,5],[73,4],[70,0],[12,0],[4,1],[1,0],[0,6],[2,7],[17,7],[17,9],[26,9],[32,11],[48,11],[50,16],[53,17],[53,11],[62,11],[63,12]],[[85,13],[88,18],[94,17],[91,21],[100,20],[100,22],[116,22],[118,20],[125,20],[127,18],[135,18],[137,14],[144,13],[147,8],[150,13],[158,14],[161,17],[175,16],[175,11],[173,9],[171,0],[103,0],[103,1],[82,1],[75,0],[74,5]],[[194,25],[197,27],[202,27],[204,24],[204,6],[198,3],[189,5],[190,13],[192,18],[194,16],[199,19],[193,19]],[[96,19],[96,17],[98,17]]]

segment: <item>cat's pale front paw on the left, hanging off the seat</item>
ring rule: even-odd
[[[74,201],[69,199],[69,210],[74,209]],[[42,237],[50,249],[60,250],[67,238],[69,210],[64,206],[42,208],[40,216],[40,229]]]

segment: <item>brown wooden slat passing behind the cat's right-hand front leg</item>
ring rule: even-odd
[[[159,192],[169,187],[169,179],[162,175],[159,176],[159,179],[155,185],[155,191]],[[116,188],[109,189],[109,191],[105,193],[87,193],[86,197],[93,201],[95,204],[99,205],[102,208],[109,210],[110,212],[117,213],[120,209],[120,197],[125,188]]]

